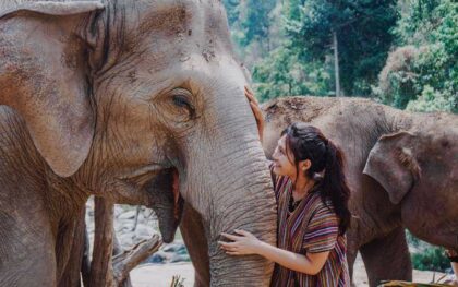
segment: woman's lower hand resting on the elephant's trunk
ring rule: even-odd
[[[257,248],[262,241],[257,239],[254,235],[250,234],[249,231],[244,230],[234,230],[236,235],[229,235],[221,232],[221,236],[232,240],[233,242],[224,242],[218,241],[221,246],[221,249],[226,251],[226,254],[229,255],[249,255],[249,254],[257,254]]]

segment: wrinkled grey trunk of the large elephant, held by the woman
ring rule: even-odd
[[[188,165],[188,178],[197,180],[189,184],[192,192],[185,192],[184,200],[203,217],[210,285],[267,286],[272,262],[260,255],[227,255],[218,246],[218,240],[227,240],[220,234],[234,229],[276,244],[277,213],[267,160],[243,92],[217,103],[217,115],[207,116],[216,124],[212,136],[200,136]]]

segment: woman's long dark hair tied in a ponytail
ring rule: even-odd
[[[309,159],[312,165],[305,176],[316,180],[318,184],[312,192],[320,192],[325,204],[327,200],[330,200],[334,211],[340,219],[339,234],[345,234],[350,226],[351,213],[348,210],[350,189],[343,174],[342,152],[317,128],[303,122],[289,125],[281,132],[281,135],[285,134],[286,154],[291,153],[294,156],[296,178],[300,171],[299,162]]]

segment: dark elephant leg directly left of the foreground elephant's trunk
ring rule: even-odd
[[[208,244],[205,237],[204,225],[201,215],[188,203],[184,203],[180,230],[194,266],[194,286],[209,286]]]

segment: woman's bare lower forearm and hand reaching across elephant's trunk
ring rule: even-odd
[[[310,275],[317,274],[329,256],[329,251],[306,253],[305,255],[294,253],[261,241],[248,231],[236,230],[236,232],[241,236],[221,234],[233,241],[219,241],[221,248],[226,250],[226,253],[229,255],[260,254],[284,267]]]

